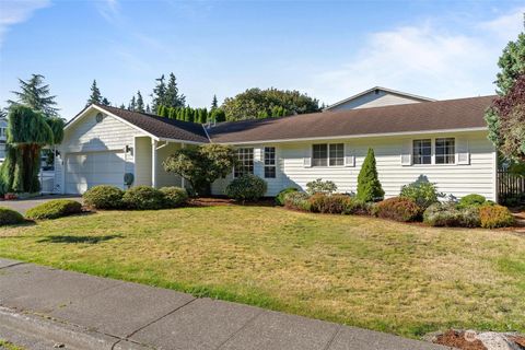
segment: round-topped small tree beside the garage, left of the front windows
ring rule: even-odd
[[[202,195],[218,178],[225,177],[236,162],[233,148],[222,144],[205,144],[177,150],[163,163],[166,172],[186,179],[194,191]]]

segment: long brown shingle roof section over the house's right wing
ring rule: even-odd
[[[222,122],[207,129],[212,142],[250,142],[319,137],[416,132],[486,127],[494,96],[360,108]]]

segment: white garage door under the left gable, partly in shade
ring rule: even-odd
[[[96,185],[124,188],[125,164],[122,152],[68,154],[65,174],[66,192],[83,194]]]

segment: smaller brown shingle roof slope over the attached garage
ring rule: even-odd
[[[208,136],[200,124],[168,119],[147,113],[131,112],[110,106],[97,106],[158,138],[202,143],[209,142]]]

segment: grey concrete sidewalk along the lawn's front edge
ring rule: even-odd
[[[0,338],[25,334],[66,349],[447,349],[7,259],[0,259]]]

